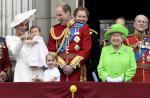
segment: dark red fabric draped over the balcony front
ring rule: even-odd
[[[149,98],[149,83],[0,83],[0,98]]]

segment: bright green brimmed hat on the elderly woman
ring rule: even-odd
[[[121,24],[113,24],[113,25],[110,27],[110,29],[108,29],[108,30],[106,31],[106,33],[105,33],[105,35],[104,35],[104,38],[105,38],[105,39],[109,39],[111,33],[121,33],[121,34],[125,35],[125,37],[127,37],[129,31],[128,31],[128,29],[127,29],[125,26],[123,26],[123,25],[121,25]]]

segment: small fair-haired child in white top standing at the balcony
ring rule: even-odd
[[[57,54],[55,52],[49,52],[46,56],[46,64],[48,69],[44,71],[44,80],[36,76],[33,81],[35,82],[51,82],[60,81],[60,72],[56,67],[57,65]]]

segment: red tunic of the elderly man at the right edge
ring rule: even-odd
[[[148,36],[144,35],[143,39],[146,39]],[[136,53],[139,51],[139,41],[141,40],[141,36],[136,34],[129,35],[125,40],[125,43],[131,46]],[[133,82],[150,82],[150,61],[147,60],[148,56],[150,56],[150,50],[147,49],[146,52],[140,56],[137,60],[137,70],[136,74],[133,77]]]

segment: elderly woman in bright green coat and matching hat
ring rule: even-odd
[[[103,82],[127,82],[136,72],[136,61],[131,47],[123,44],[129,31],[121,24],[114,24],[104,37],[111,45],[103,47],[98,65],[98,76]]]

